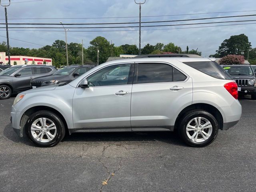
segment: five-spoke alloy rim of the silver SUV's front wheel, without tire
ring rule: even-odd
[[[34,120],[30,130],[33,138],[42,143],[52,141],[57,134],[57,128],[54,122],[48,118]]]

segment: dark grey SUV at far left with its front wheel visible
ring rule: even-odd
[[[31,89],[30,81],[36,77],[48,76],[56,72],[54,66],[15,65],[0,72],[0,99],[8,99],[12,94]]]

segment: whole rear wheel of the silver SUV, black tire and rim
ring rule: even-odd
[[[218,134],[219,125],[216,118],[204,110],[191,110],[184,114],[180,122],[181,138],[193,147],[211,144]]]

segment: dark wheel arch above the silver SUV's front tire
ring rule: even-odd
[[[49,107],[49,106],[34,106],[34,107],[31,107],[28,110],[26,110],[20,119],[20,130],[22,131],[23,136],[25,135],[24,134],[24,126],[26,125],[28,118],[30,117],[31,114],[33,114],[34,112],[40,111],[40,110],[48,110],[50,112],[54,112],[56,115],[58,115],[61,118],[61,120],[65,126],[66,133],[67,132],[68,132],[68,134],[72,133],[72,132],[70,132],[70,129],[68,128],[68,124],[67,124],[64,116],[58,110],[56,110],[52,107]]]

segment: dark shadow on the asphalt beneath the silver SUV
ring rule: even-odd
[[[8,124],[4,128],[4,136],[15,143],[34,146],[28,138],[20,138]],[[149,142],[160,141],[168,144],[186,146],[177,132],[104,132],[104,133],[73,133],[66,135],[62,142]]]

